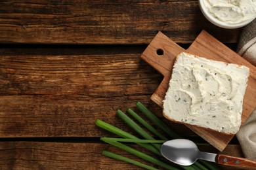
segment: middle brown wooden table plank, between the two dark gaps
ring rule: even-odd
[[[162,118],[150,101],[161,79],[140,54],[0,56],[0,137],[112,135],[95,128],[95,120],[126,127],[116,110],[135,109],[137,101]]]

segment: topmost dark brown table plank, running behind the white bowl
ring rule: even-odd
[[[148,44],[158,31],[190,43],[202,29],[222,42],[240,32],[208,22],[195,0],[0,2],[2,44]]]

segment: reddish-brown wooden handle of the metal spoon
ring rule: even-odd
[[[216,156],[216,161],[217,163],[229,166],[256,167],[256,160],[249,160],[246,158],[238,158],[221,154]]]

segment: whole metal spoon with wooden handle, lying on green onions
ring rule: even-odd
[[[223,165],[256,167],[256,160],[200,152],[200,150],[198,150],[198,146],[187,139],[174,139],[163,143],[161,145],[161,154],[167,160],[185,166],[192,165],[196,160],[202,159]]]

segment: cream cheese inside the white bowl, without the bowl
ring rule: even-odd
[[[222,22],[240,24],[256,16],[256,0],[205,0],[209,13]]]

